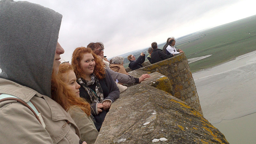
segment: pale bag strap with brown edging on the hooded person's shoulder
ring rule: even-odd
[[[26,106],[28,109],[30,109],[33,112],[33,114],[36,116],[36,119],[45,128],[44,120],[43,120],[41,113],[39,112],[39,110],[36,108],[36,106],[30,100],[26,103],[15,96],[12,96],[9,94],[0,94],[0,102],[6,101],[6,100],[16,100],[16,101],[22,103],[24,106]]]

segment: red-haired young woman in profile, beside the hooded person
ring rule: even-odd
[[[76,75],[73,68],[69,63],[62,63],[59,67],[58,78],[60,83],[66,86],[66,89],[62,90],[62,94],[68,100],[68,113],[74,119],[76,125],[79,128],[81,134],[81,140],[87,143],[94,143],[98,136],[98,131],[91,118],[90,104],[79,96],[80,85],[76,82]],[[67,104],[67,103],[65,103]],[[65,105],[64,103],[62,105]],[[64,106],[67,107],[67,106]]]

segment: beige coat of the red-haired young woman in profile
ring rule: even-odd
[[[96,129],[90,116],[87,116],[81,108],[75,107],[68,111],[70,116],[76,122],[81,133],[81,140],[88,144],[94,143],[98,137],[98,130]]]

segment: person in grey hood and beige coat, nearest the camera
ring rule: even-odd
[[[51,98],[64,53],[61,19],[38,4],[0,1],[0,143],[81,143],[74,120]]]

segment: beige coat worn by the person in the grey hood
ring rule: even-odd
[[[75,143],[80,132],[71,116],[54,100],[35,90],[0,78],[0,93],[34,103],[46,127],[26,106],[15,100],[0,103],[0,143]],[[68,122],[68,123],[67,123]]]

